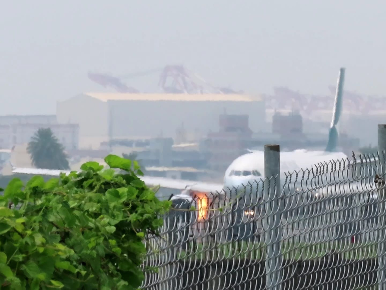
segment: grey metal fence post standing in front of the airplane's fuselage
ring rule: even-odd
[[[266,288],[281,289],[281,212],[280,212],[280,146],[264,146],[264,206],[266,227],[264,240],[266,250]]]

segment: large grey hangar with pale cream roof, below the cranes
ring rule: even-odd
[[[218,130],[220,114],[249,115],[252,131],[265,124],[261,96],[245,94],[123,94],[85,93],[57,103],[60,123],[78,123],[80,146],[98,148],[110,138],[176,137],[186,132],[203,135]]]

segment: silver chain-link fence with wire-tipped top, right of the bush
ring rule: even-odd
[[[141,288],[378,289],[384,159],[353,157],[172,198],[161,234],[146,242],[144,267],[157,271],[146,270]]]

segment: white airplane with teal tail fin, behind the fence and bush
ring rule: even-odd
[[[315,164],[329,160],[348,159],[343,152],[336,152],[338,144],[337,124],[342,113],[342,97],[344,86],[345,68],[340,68],[335,94],[334,108],[330,130],[328,134],[328,143],[324,151],[314,151],[299,149],[291,152],[280,152],[280,170],[283,178],[288,172],[305,168],[312,168]],[[189,185],[190,192],[201,193],[220,193],[223,194],[227,189],[244,188],[245,194],[249,191],[255,191],[256,188],[247,185],[255,185],[256,181],[264,179],[264,152],[249,150],[250,152],[236,158],[225,171],[223,183],[205,183],[199,181],[189,181],[181,179],[171,179],[165,177],[142,176],[141,179],[149,186],[160,186],[162,188],[185,190]],[[59,176],[63,172],[68,174],[69,171],[18,168],[12,166],[12,173],[24,174],[45,174]]]

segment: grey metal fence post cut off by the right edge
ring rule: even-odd
[[[386,282],[386,242],[385,242],[385,217],[386,217],[386,208],[385,208],[385,151],[386,151],[386,125],[378,124],[378,151],[379,151],[379,165],[381,165],[381,172],[379,176],[381,177],[381,182],[378,185],[378,285],[379,290],[386,289],[384,285]]]

